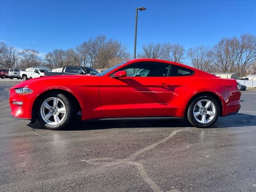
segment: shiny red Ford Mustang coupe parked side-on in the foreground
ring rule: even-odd
[[[236,114],[241,92],[236,80],[164,60],[136,59],[96,76],[49,76],[10,89],[13,118],[58,130],[81,112],[82,120],[186,118],[207,128],[219,116]]]

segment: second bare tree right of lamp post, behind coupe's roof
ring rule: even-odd
[[[166,43],[162,45],[162,56],[163,60],[181,62],[184,57],[185,49],[179,44]]]

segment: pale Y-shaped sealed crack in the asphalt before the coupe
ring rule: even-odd
[[[184,130],[175,130],[168,137],[166,137],[156,143],[153,143],[143,149],[140,149],[140,150],[134,152],[133,154],[131,154],[130,156],[128,156],[125,159],[93,158],[93,159],[89,159],[89,160],[80,160],[80,161],[85,161],[86,163],[92,164],[94,166],[100,165],[100,168],[110,167],[110,166],[114,166],[114,165],[121,164],[121,163],[136,166],[140,176],[152,188],[152,190],[154,192],[163,192],[163,190],[161,190],[161,188],[148,176],[144,165],[139,162],[135,162],[134,159],[136,157],[138,157],[140,154],[155,148],[159,144],[166,142],[168,139],[172,138],[174,135],[176,135],[180,131],[184,131]],[[172,190],[168,190],[167,192],[179,192],[179,190],[172,189]]]

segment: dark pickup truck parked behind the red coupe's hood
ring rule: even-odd
[[[80,66],[64,66],[62,72],[46,72],[44,76],[53,76],[53,75],[96,75],[99,72],[90,67],[80,67]]]

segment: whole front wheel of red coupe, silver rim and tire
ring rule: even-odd
[[[70,100],[64,94],[49,93],[40,98],[38,120],[47,129],[60,130],[74,118]]]

